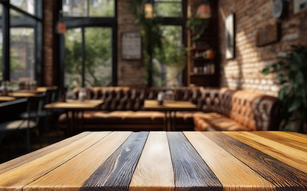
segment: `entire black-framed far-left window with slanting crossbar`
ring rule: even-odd
[[[40,10],[40,12],[35,12]],[[41,83],[42,2],[38,0],[0,1],[0,80],[18,84]]]

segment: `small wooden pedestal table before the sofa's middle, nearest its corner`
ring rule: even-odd
[[[155,111],[164,111],[165,112],[165,129],[167,131],[176,130],[176,111],[191,111],[197,110],[197,106],[191,102],[187,101],[165,101],[163,105],[159,105],[156,100],[145,100],[144,109],[146,110],[155,110]],[[171,112],[174,112],[172,117]],[[173,123],[172,123],[173,121]],[[173,128],[172,128],[173,127]]]

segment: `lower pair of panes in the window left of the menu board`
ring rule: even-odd
[[[65,86],[71,89],[82,86],[83,70],[84,86],[108,86],[112,83],[111,32],[110,28],[102,27],[68,30],[65,36]]]

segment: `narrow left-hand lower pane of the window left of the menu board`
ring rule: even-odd
[[[65,34],[65,74],[64,85],[71,90],[82,85],[82,31],[69,29]]]

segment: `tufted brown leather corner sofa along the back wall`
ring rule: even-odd
[[[78,88],[74,89],[77,96]],[[164,112],[144,110],[145,99],[156,99],[169,88],[91,87],[89,99],[103,99],[98,110],[85,111],[84,130],[163,130]],[[175,90],[175,89],[173,89]],[[245,90],[178,87],[176,100],[190,101],[197,111],[178,111],[175,130],[278,130],[276,97]],[[66,126],[66,115],[58,119]]]

